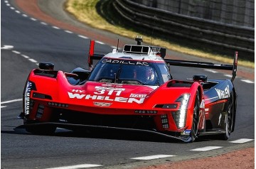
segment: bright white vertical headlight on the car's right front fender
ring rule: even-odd
[[[178,129],[185,126],[189,97],[190,94],[182,94],[181,97],[178,97],[176,102],[181,102],[180,107],[178,108],[178,111],[171,112]]]

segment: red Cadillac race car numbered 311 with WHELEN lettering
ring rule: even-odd
[[[41,62],[28,75],[23,91],[23,127],[34,134],[62,129],[117,129],[157,133],[184,142],[216,134],[227,140],[235,128],[237,94],[233,85],[238,65],[165,59],[166,48],[124,45],[122,52],[94,53],[88,65],[72,72]],[[193,75],[175,80],[171,66],[232,70],[231,80]]]

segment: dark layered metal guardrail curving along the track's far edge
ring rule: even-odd
[[[181,40],[216,53],[254,61],[254,28],[218,23],[202,18],[184,16],[137,4],[131,0],[114,0],[114,9],[129,23],[171,40]]]

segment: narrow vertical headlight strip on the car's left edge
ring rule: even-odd
[[[28,81],[26,83],[26,87],[24,89],[23,97],[24,97],[24,113],[25,115],[28,115],[31,110],[31,90],[34,89],[36,90],[36,85],[33,82]]]

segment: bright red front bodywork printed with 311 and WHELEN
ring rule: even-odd
[[[169,83],[178,81],[171,80],[160,87],[150,87],[132,84],[114,84],[102,82],[86,82],[83,85],[72,85],[68,82],[64,72],[58,71],[56,78],[35,75],[34,70],[28,77],[30,82],[36,84],[36,90],[31,91],[33,109],[27,117],[29,120],[48,122],[56,107],[92,114],[109,115],[141,115],[154,116],[157,131],[178,131],[191,130],[193,120],[193,107],[196,91],[200,92],[200,100],[203,100],[203,89],[198,82],[190,82],[191,87],[167,87]],[[35,98],[33,95],[46,94],[51,99]],[[172,111],[178,111],[180,102],[176,99],[181,94],[190,94],[188,102],[186,125],[178,129]],[[200,103],[201,103],[200,101]],[[61,106],[63,104],[63,106]],[[156,105],[176,104],[175,109],[159,108]],[[38,107],[43,106],[43,115],[37,118]],[[204,107],[200,108],[199,130],[205,126]],[[166,114],[169,127],[163,127],[161,115]]]

